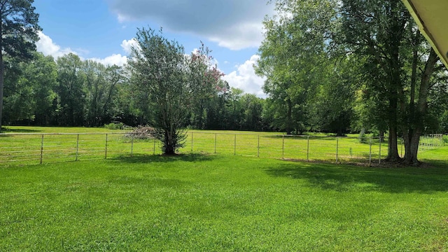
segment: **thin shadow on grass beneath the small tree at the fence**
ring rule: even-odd
[[[130,157],[129,155],[123,155],[116,158],[113,158],[111,160],[115,160],[117,162],[125,162],[130,164],[144,164],[144,163],[151,163],[151,162],[176,162],[176,161],[183,161],[183,162],[202,162],[202,161],[209,161],[209,160],[215,160],[218,158],[215,155],[207,155],[207,154],[179,154],[179,155],[145,155],[145,154],[138,154],[133,155]]]

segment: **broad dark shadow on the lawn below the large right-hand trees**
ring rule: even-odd
[[[446,164],[446,162],[445,162]],[[324,190],[368,190],[384,193],[448,191],[448,172],[435,168],[370,168],[329,164],[288,164],[266,170],[270,176],[307,181]]]

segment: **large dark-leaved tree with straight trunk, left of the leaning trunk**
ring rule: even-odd
[[[409,14],[399,0],[342,1],[344,41],[353,50],[367,57],[367,71],[372,73],[370,84],[383,91],[387,102],[385,119],[388,123],[388,160],[399,160],[398,90],[402,76],[400,48],[405,38]]]

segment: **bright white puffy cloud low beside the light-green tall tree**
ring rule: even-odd
[[[265,78],[257,76],[253,65],[257,64],[260,56],[252,55],[251,59],[246,60],[244,64],[237,66],[236,71],[232,71],[223,77],[231,87],[237,87],[249,94],[255,94],[258,97],[265,98],[267,95],[262,91]]]

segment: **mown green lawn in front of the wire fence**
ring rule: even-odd
[[[0,251],[447,251],[447,156],[425,152],[425,168],[199,154],[0,167]]]

